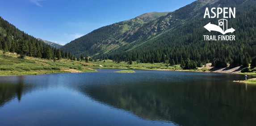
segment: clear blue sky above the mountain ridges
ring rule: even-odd
[[[1,0],[0,16],[36,38],[60,44],[147,12],[175,11],[195,0]]]

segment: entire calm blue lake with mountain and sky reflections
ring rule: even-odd
[[[256,126],[243,75],[99,71],[1,76],[0,126]]]

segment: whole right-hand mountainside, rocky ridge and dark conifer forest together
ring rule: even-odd
[[[219,18],[203,18],[206,8],[217,7],[236,8],[236,17],[227,19],[235,32],[226,34],[235,35],[235,41],[204,40],[203,35],[222,35],[204,28],[223,18],[223,14]],[[255,0],[197,0],[150,21],[138,16],[99,28],[62,49],[77,56],[88,52],[94,58],[115,61],[160,63],[175,59],[179,64],[223,61],[240,66],[242,60],[251,61],[256,55],[255,10]]]

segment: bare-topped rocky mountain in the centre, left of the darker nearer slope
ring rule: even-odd
[[[131,20],[99,28],[67,43],[65,46],[61,47],[61,49],[70,50],[77,56],[80,54],[86,55],[86,52],[88,52],[89,55],[108,53],[114,48],[129,44],[126,40],[141,28],[143,24],[147,24],[168,13],[169,12],[145,13]]]

